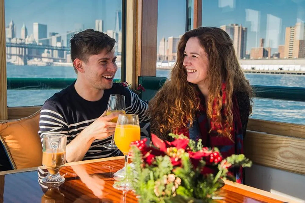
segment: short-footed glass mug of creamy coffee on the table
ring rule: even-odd
[[[59,170],[66,164],[66,135],[44,135],[42,143],[42,165],[48,170],[48,175],[42,183],[49,187],[57,187],[65,181]]]

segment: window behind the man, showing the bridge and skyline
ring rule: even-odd
[[[8,106],[42,105],[74,81],[69,40],[88,28],[117,41],[120,79],[122,17],[122,1],[5,0]]]

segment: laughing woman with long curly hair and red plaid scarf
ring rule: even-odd
[[[216,27],[190,30],[179,41],[170,81],[149,103],[151,133],[169,141],[170,132],[200,138],[224,158],[243,154],[252,96],[229,35]],[[234,173],[241,183],[242,168]]]

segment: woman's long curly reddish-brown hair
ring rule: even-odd
[[[177,133],[179,128],[188,128],[188,122],[192,126],[195,112],[199,110],[200,101],[196,91],[196,85],[187,81],[187,72],[183,66],[185,45],[191,37],[199,39],[201,47],[208,54],[209,68],[206,80],[209,81],[209,96],[207,116],[212,117],[213,101],[217,98],[215,123],[228,121],[229,126],[218,129],[221,135],[231,138],[233,122],[232,97],[233,92],[244,92],[249,98],[253,97],[253,91],[249,81],[245,78],[235,55],[233,42],[224,30],[217,27],[199,27],[186,32],[178,44],[177,61],[171,70],[170,80],[156,93],[149,102],[149,113],[160,126],[161,133],[168,131]],[[225,107],[227,114],[221,115],[222,98],[221,85],[226,82]],[[251,100],[252,103],[252,100]],[[252,114],[250,105],[250,114]],[[215,115],[214,115],[215,117]]]

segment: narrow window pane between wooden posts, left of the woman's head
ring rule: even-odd
[[[186,3],[186,0],[158,2],[157,76],[169,77],[176,61],[178,42],[185,33]]]

